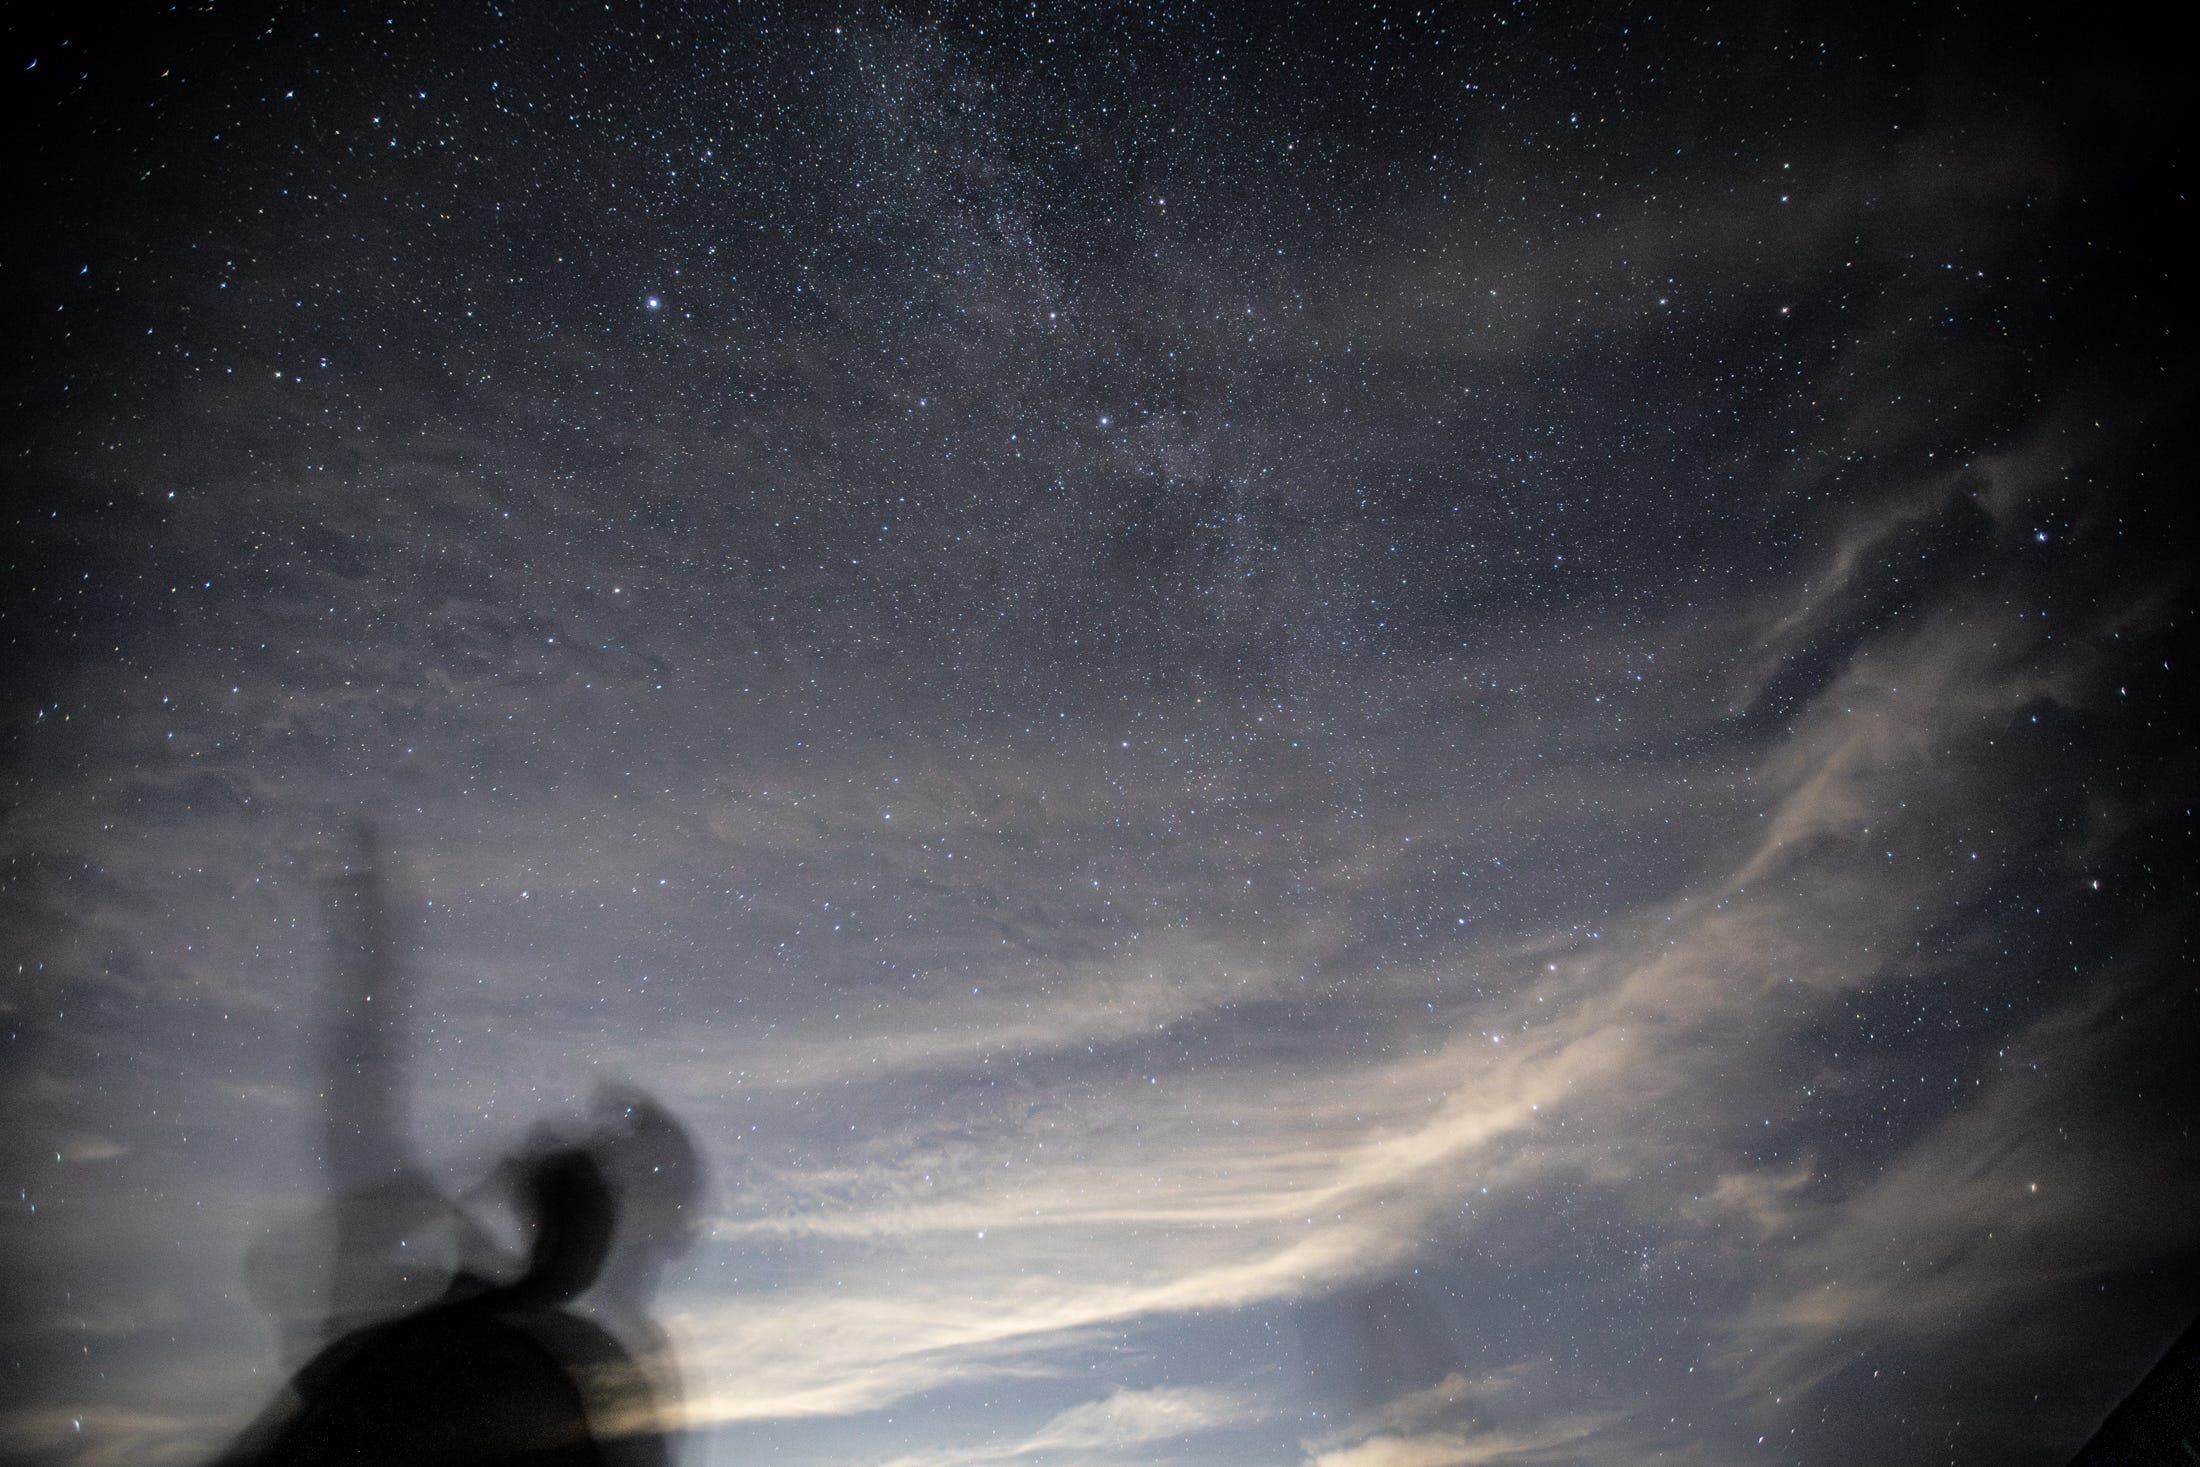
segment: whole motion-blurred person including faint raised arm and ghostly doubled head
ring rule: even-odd
[[[365,827],[330,904],[339,961],[323,1155],[334,1201],[249,1262],[286,1348],[310,1359],[218,1460],[667,1463],[680,1383],[649,1298],[693,1238],[702,1161],[686,1130],[649,1095],[607,1089],[579,1139],[537,1126],[447,1199],[407,1144],[409,985]],[[475,1216],[495,1194],[508,1196],[524,1258]],[[315,1238],[330,1249],[326,1284],[306,1262]]]

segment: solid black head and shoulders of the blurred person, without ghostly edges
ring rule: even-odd
[[[442,1302],[334,1342],[222,1467],[662,1467],[642,1370],[565,1306],[603,1269],[612,1188],[585,1150],[559,1150],[528,1192],[537,1234],[517,1282],[460,1278]]]

